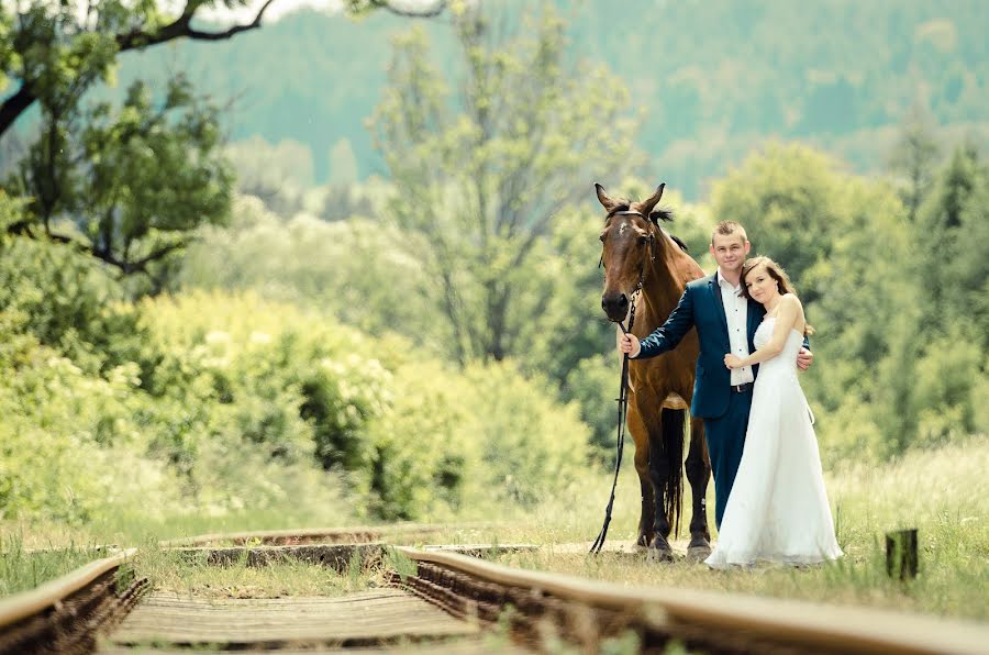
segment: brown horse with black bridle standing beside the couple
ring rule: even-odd
[[[640,338],[663,325],[687,282],[704,275],[686,249],[659,225],[660,219],[673,220],[669,210],[654,211],[665,186],[659,185],[645,200],[630,202],[612,199],[601,185],[594,185],[598,200],[608,212],[601,232],[604,244],[601,308],[611,321],[620,322],[629,318],[634,302],[632,333]],[[660,559],[673,559],[667,537],[673,525],[679,531],[684,425],[693,397],[698,352],[697,332],[691,331],[676,349],[642,362],[633,359],[629,367],[629,432],[635,442],[635,470],[642,487],[636,543],[654,548]],[[700,419],[690,420],[686,469],[693,499],[687,553],[702,559],[711,553],[704,501],[711,462]]]

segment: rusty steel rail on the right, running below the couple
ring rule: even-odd
[[[426,565],[452,574],[427,575],[429,580],[419,585],[424,596],[430,596],[430,589],[436,586],[447,587],[447,593],[457,592],[453,588],[458,587],[463,595],[469,582],[457,578],[468,576],[481,586],[512,591],[508,598],[527,602],[526,599],[542,597],[613,615],[623,614],[625,620],[619,621],[620,625],[686,635],[701,646],[705,635],[729,635],[727,641],[738,644],[741,652],[767,646],[829,653],[985,654],[989,650],[989,629],[977,623],[734,593],[633,589],[573,576],[513,569],[463,555],[401,546],[395,549],[416,563],[420,570]],[[415,584],[407,586],[416,587]],[[438,600],[448,604],[448,598]],[[714,650],[736,650],[724,648],[724,642],[723,637],[712,639],[710,645]],[[753,644],[753,648],[741,645],[744,643]]]

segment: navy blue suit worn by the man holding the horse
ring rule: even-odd
[[[766,309],[749,298],[749,353],[755,352],[753,337],[765,314]],[[704,435],[714,476],[714,524],[720,529],[729,493],[742,462],[748,412],[752,408],[752,385],[741,393],[731,386],[732,374],[724,365],[724,355],[731,353],[732,348],[716,274],[687,285],[680,302],[666,322],[642,340],[642,351],[635,358],[655,357],[671,351],[691,328],[697,328],[700,354],[697,358],[690,413],[704,420]],[[804,341],[804,346],[807,345]],[[758,366],[753,366],[753,374],[758,375]]]

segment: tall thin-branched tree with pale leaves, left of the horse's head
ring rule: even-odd
[[[565,59],[549,5],[511,36],[480,10],[455,9],[459,92],[412,31],[395,42],[370,124],[398,189],[391,214],[430,244],[412,254],[433,280],[451,352],[502,359],[524,349],[553,293],[543,265],[556,213],[635,164],[636,121],[605,69]]]

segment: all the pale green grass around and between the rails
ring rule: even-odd
[[[916,451],[898,462],[856,464],[830,470],[829,497],[835,510],[838,542],[846,556],[829,566],[805,569],[759,567],[752,571],[711,571],[702,565],[657,564],[643,556],[586,557],[582,551],[565,552],[563,544],[589,544],[598,533],[611,488],[607,471],[588,473],[566,492],[547,498],[538,507],[518,508],[492,503],[463,508],[457,522],[488,521],[489,526],[456,528],[427,537],[429,543],[477,544],[535,543],[535,553],[504,553],[498,562],[554,570],[629,586],[696,588],[800,598],[842,604],[882,607],[976,621],[989,620],[985,590],[989,587],[989,438],[974,437],[938,451]],[[713,489],[708,489],[713,507]],[[689,522],[689,500],[684,523]],[[427,521],[451,521],[429,515]],[[638,520],[638,482],[631,453],[619,482],[609,541],[635,536]],[[355,521],[341,514],[337,525]],[[244,514],[222,521],[177,518],[148,525],[140,518],[115,526],[74,531],[56,524],[3,524],[12,536],[3,537],[0,590],[13,593],[66,573],[96,558],[92,546],[118,543],[140,545],[135,563],[159,589],[216,597],[273,597],[337,595],[376,585],[374,570],[354,569],[343,576],[330,569],[285,563],[264,569],[246,566],[205,567],[170,560],[156,546],[159,539],[207,532],[333,526],[327,522],[300,521],[291,514]],[[920,534],[921,574],[912,582],[893,582],[886,576],[884,535],[901,528]],[[109,535],[109,536],[108,536]],[[681,537],[682,537],[681,532]],[[63,545],[60,552],[29,554],[27,548]]]

